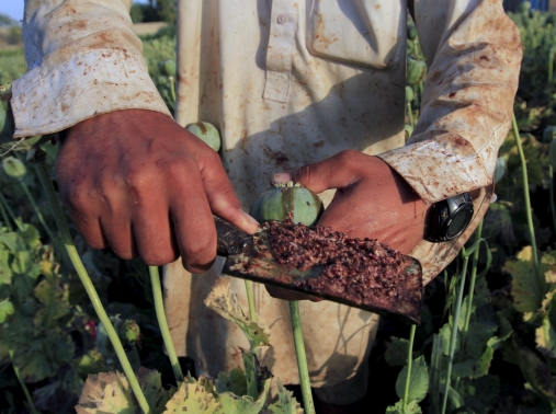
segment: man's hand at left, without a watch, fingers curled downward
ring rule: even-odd
[[[93,249],[201,273],[216,256],[212,212],[249,233],[218,154],[168,116],[116,111],[71,127],[56,160],[71,219]]]

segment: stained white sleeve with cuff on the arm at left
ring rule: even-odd
[[[12,85],[14,137],[52,134],[117,110],[171,116],[120,0],[25,0],[30,70]]]

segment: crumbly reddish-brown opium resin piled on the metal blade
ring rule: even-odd
[[[405,269],[412,258],[371,239],[352,239],[329,227],[269,221],[263,225],[274,260],[287,267],[309,271],[322,266],[318,277],[295,280],[294,286],[338,296],[363,304],[390,308],[398,300],[411,300],[404,289]]]

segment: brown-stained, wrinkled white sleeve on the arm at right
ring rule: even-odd
[[[498,0],[416,0],[415,16],[429,67],[421,115],[405,147],[378,157],[430,204],[492,183],[522,49]]]

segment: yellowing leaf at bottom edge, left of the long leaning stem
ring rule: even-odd
[[[87,379],[77,414],[135,414],[132,388],[121,372],[101,372]]]

